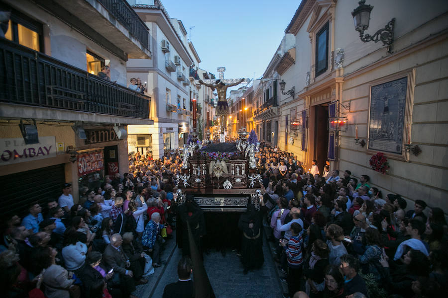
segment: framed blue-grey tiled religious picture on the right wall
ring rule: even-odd
[[[368,149],[403,157],[408,134],[411,73],[376,81],[370,86]]]

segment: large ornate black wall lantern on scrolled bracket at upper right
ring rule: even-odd
[[[392,44],[394,42],[394,24],[395,18],[390,20],[386,26],[382,29],[376,31],[375,34],[369,35],[365,34],[364,31],[369,27],[370,21],[370,12],[372,11],[373,6],[365,4],[365,0],[359,1],[359,6],[353,9],[351,15],[353,16],[355,30],[359,32],[359,38],[363,42],[374,41],[377,43],[378,41],[382,41],[383,45],[388,45],[388,53],[392,53]]]

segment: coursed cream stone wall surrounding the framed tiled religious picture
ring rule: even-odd
[[[343,83],[343,101],[351,100],[348,131],[342,134],[339,169],[350,169],[356,177],[367,174],[371,185],[383,194],[398,193],[415,201],[422,199],[431,207],[448,210],[448,40],[432,44],[407,56],[399,57],[381,67],[350,76]],[[411,98],[411,143],[422,153],[410,154],[409,161],[388,158],[387,175],[370,169],[367,146],[354,144],[354,129],[360,139],[367,138],[369,84],[372,80],[402,71],[415,71],[414,96]],[[412,94],[412,93],[411,93]],[[412,202],[408,209],[413,208]]]

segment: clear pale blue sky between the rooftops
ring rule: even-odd
[[[277,50],[300,0],[162,0],[182,21],[202,60],[224,78],[260,77]],[[227,93],[228,96],[228,93]]]

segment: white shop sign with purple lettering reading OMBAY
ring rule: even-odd
[[[30,145],[23,138],[0,139],[0,152],[0,165],[56,157],[56,138],[39,136],[39,143]]]

